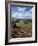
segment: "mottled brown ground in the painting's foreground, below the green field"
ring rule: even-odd
[[[20,29],[20,28],[12,29],[11,37],[12,38],[32,37],[32,29],[30,28],[29,29]]]

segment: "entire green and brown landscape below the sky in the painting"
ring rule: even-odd
[[[32,20],[13,20],[11,25],[12,38],[32,36]]]

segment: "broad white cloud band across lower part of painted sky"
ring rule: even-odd
[[[22,10],[22,9],[21,9]],[[15,13],[12,13],[12,17],[15,17],[15,18],[26,18],[26,19],[31,19],[32,18],[32,14],[30,13],[32,11],[32,9],[29,11],[29,12],[15,12]]]

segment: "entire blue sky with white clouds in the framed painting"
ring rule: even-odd
[[[32,7],[11,7],[11,17],[17,19],[32,19]]]

